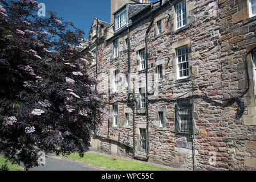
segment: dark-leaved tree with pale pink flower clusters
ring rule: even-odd
[[[83,156],[106,113],[76,48],[84,32],[51,11],[40,18],[36,1],[0,4],[0,152],[26,169],[39,151]]]

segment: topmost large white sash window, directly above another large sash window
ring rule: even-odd
[[[186,26],[186,0],[176,5],[177,29]]]

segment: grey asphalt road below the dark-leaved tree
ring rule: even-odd
[[[22,166],[23,167],[23,166]],[[34,167],[29,171],[113,171],[113,169],[101,168],[91,164],[79,162],[60,156],[47,155],[44,166]]]

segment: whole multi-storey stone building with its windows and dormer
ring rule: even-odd
[[[92,150],[194,170],[256,169],[256,2],[111,1],[89,46],[105,118]]]

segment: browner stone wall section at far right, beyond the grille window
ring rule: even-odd
[[[246,63],[249,72],[250,88],[242,97],[245,113],[235,119],[239,102],[225,107],[222,126],[225,129],[224,141],[229,154],[229,169],[251,170],[256,168],[255,154],[255,90],[252,74],[252,61],[249,51],[256,47],[255,16],[249,18],[248,1],[221,0],[220,34],[222,82],[224,97],[234,97],[243,93],[249,86]],[[249,53],[249,54],[248,54]]]

